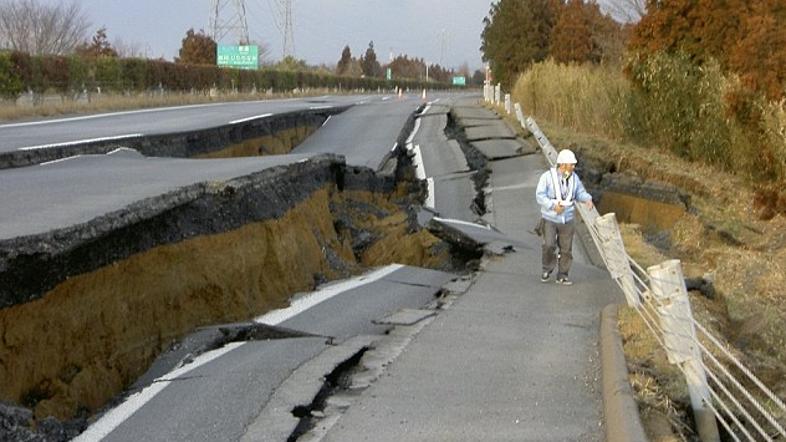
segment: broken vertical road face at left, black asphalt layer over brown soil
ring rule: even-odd
[[[394,262],[463,271],[418,225],[423,189],[401,157],[394,176],[316,157],[0,244],[5,434],[74,437],[194,328],[322,282]]]

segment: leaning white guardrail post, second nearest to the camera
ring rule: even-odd
[[[625,252],[625,244],[622,242],[622,234],[619,224],[617,224],[616,215],[607,213],[595,218],[595,227],[598,229],[600,253],[603,254],[603,261],[611,273],[611,278],[617,280],[622,287],[628,306],[639,308],[641,299],[636,293],[633,270],[628,262],[628,254]]]

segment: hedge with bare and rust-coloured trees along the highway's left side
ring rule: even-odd
[[[0,96],[13,99],[25,91],[53,91],[66,96],[97,88],[125,93],[151,89],[286,91],[426,86],[425,78],[404,75],[403,69],[395,83],[385,81],[373,46],[362,57],[365,71],[361,69],[358,75],[353,70],[336,72],[332,67],[309,66],[291,56],[245,71],[216,66],[217,43],[203,30],[186,31],[172,63],[143,58],[137,51],[129,53],[127,47],[112,44],[106,28],[99,28],[87,39],[89,27],[77,3],[51,6],[38,0],[0,1]],[[260,52],[262,61],[267,48],[262,45]],[[438,66],[432,69],[431,80],[449,84],[446,70]]]

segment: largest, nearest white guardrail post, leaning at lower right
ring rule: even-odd
[[[663,341],[669,362],[682,367],[688,383],[691,407],[703,442],[720,441],[715,415],[707,406],[711,401],[707,374],[701,364],[696,329],[690,309],[680,261],[673,259],[647,269],[656,310],[663,328]]]

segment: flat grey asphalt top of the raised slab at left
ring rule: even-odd
[[[2,170],[0,239],[73,226],[183,186],[226,181],[309,156],[192,160],[118,151]]]

